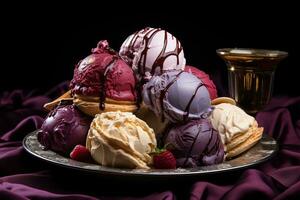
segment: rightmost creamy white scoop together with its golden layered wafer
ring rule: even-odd
[[[258,127],[255,118],[233,104],[214,105],[210,119],[225,145],[227,158],[248,150],[262,137],[263,128]]]

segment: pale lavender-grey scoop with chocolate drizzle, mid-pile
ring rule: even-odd
[[[191,73],[173,70],[153,76],[143,88],[146,106],[171,122],[206,118],[211,100],[202,81]]]

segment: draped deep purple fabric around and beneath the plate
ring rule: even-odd
[[[39,128],[42,105],[62,94],[62,83],[45,95],[13,91],[0,96],[0,199],[297,199],[300,197],[300,97],[276,97],[256,118],[280,146],[276,157],[255,168],[214,177],[140,183],[95,177],[51,166],[28,155],[24,136]],[[91,181],[91,179],[94,179]],[[125,186],[126,185],[126,186]]]

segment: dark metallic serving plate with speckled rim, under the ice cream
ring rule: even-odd
[[[59,165],[61,167],[72,168],[76,170],[83,170],[91,173],[97,173],[102,175],[117,175],[117,176],[195,176],[195,175],[206,175],[215,174],[221,172],[228,172],[243,168],[249,168],[259,163],[262,163],[270,159],[275,155],[278,150],[276,141],[268,136],[263,135],[259,143],[249,149],[247,152],[240,156],[225,161],[221,164],[211,166],[201,166],[197,168],[187,169],[120,169],[104,167],[97,164],[84,163],[72,160],[67,157],[63,157],[53,151],[43,150],[43,146],[37,140],[37,131],[29,133],[23,140],[23,147],[34,157],[47,161],[49,163]]]

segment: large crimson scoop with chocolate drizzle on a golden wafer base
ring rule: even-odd
[[[137,108],[134,72],[105,40],[75,67],[70,89],[74,103],[92,116]]]

